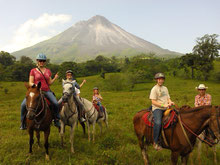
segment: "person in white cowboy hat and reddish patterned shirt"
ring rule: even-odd
[[[211,105],[212,97],[210,94],[206,93],[206,87],[204,84],[199,84],[198,87],[196,87],[199,94],[195,96],[195,107],[203,106],[203,105]]]

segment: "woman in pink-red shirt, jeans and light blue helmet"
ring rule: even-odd
[[[59,107],[56,97],[54,96],[53,92],[50,90],[50,85],[53,84],[53,82],[58,78],[58,74],[54,76],[54,78],[51,78],[51,71],[47,68],[45,68],[47,57],[45,54],[40,53],[36,57],[37,67],[31,69],[30,75],[29,75],[29,86],[33,86],[34,84],[37,84],[38,82],[41,82],[41,91],[44,91],[45,97],[53,104],[53,110],[54,110],[54,125],[56,127],[60,127],[60,116],[59,116]],[[26,98],[21,103],[21,130],[26,129],[25,125],[25,114],[26,114]]]

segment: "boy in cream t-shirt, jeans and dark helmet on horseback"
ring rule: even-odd
[[[162,147],[158,144],[158,139],[161,132],[161,123],[164,111],[174,105],[171,101],[167,87],[163,86],[165,81],[165,75],[163,73],[157,73],[154,76],[157,84],[151,89],[150,100],[152,102],[152,111],[154,116],[154,127],[153,127],[153,147],[156,150],[161,150]]]

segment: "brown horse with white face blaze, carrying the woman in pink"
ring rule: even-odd
[[[40,146],[40,131],[44,132],[44,147],[46,149],[46,160],[49,160],[49,143],[50,125],[52,122],[52,113],[47,105],[44,95],[40,91],[41,83],[30,87],[25,84],[26,108],[27,108],[27,131],[29,134],[29,154],[32,153],[32,145],[34,143],[34,131],[36,131],[37,143]]]

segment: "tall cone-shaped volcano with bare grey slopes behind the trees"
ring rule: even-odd
[[[136,37],[99,15],[80,21],[55,37],[12,55],[17,59],[23,55],[34,59],[40,52],[47,54],[55,63],[87,61],[100,54],[107,57],[132,56],[138,53],[180,55]]]

